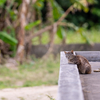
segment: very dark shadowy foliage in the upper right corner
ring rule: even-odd
[[[100,24],[99,9],[100,0],[56,0],[58,4],[66,11],[66,9],[74,4],[79,10],[75,9],[67,16],[67,20],[74,23],[77,26],[82,26],[84,23],[88,23],[88,29],[96,27]],[[84,7],[84,3],[87,1],[87,7]],[[81,10],[81,11],[80,11]]]

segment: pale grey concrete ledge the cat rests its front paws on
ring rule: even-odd
[[[57,100],[84,100],[77,66],[61,52]]]

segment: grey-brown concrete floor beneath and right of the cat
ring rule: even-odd
[[[90,62],[92,70],[100,68],[100,62]],[[100,100],[100,72],[80,74],[85,100]]]

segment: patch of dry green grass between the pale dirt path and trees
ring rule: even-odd
[[[47,60],[33,59],[31,63],[18,66],[18,70],[0,67],[0,89],[57,85],[59,77],[59,56]]]

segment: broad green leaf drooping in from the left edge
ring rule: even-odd
[[[15,38],[11,37],[9,34],[7,34],[5,31],[0,32],[0,39],[10,45],[17,44],[17,40]]]

